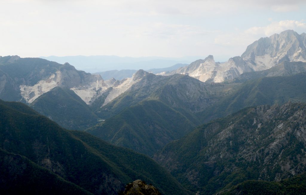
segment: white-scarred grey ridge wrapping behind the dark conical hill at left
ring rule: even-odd
[[[70,88],[87,104],[107,89],[107,85],[100,75],[92,75],[67,66],[67,68],[56,71],[49,78],[40,80],[33,86],[20,85],[21,96],[28,103],[32,103],[43,93],[57,86]]]

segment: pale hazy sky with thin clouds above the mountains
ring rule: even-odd
[[[0,56],[240,56],[306,32],[305,0],[0,0]]]

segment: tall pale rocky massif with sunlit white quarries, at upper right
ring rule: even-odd
[[[216,63],[213,56],[197,60],[169,74],[188,74],[200,81],[222,82],[244,72],[266,70],[282,61],[306,62],[306,34],[292,30],[260,38],[249,45],[241,57],[230,58],[225,63]]]

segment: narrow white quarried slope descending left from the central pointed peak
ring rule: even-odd
[[[116,85],[113,85],[113,90],[106,97],[103,106],[127,91],[132,85],[139,82],[147,74],[148,73],[144,70],[138,70],[135,74],[133,74],[132,78],[125,78],[122,79],[119,83],[115,83]]]

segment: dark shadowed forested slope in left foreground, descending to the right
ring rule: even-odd
[[[9,165],[1,171],[6,192],[20,192],[29,184],[41,193],[117,194],[126,183],[141,179],[163,194],[188,194],[149,157],[65,130],[22,103],[0,101],[0,115],[1,165]],[[29,181],[13,185],[22,180]]]

